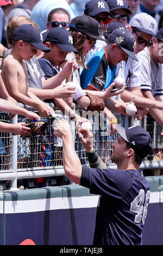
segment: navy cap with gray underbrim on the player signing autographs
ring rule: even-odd
[[[131,126],[124,129],[117,123],[116,130],[124,140],[129,142],[141,159],[152,152],[151,137],[141,126]]]

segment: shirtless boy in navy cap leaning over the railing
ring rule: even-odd
[[[49,116],[53,109],[28,89],[25,61],[36,55],[37,49],[49,51],[42,43],[39,30],[29,24],[17,27],[12,35],[12,50],[3,61],[2,78],[8,93],[17,102],[33,106],[41,116]]]

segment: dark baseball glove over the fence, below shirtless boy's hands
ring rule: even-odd
[[[41,135],[43,132],[45,132],[46,127],[48,125],[48,122],[45,120],[38,120],[37,122],[34,123],[29,123],[28,127],[30,127],[30,130],[27,134],[22,134],[22,138],[27,138],[30,136],[37,136]]]

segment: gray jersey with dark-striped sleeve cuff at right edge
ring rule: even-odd
[[[142,52],[141,62],[141,90],[148,90],[152,95],[163,94],[162,64],[155,64],[145,48]]]

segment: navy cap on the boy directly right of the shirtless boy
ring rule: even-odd
[[[55,43],[57,46],[65,52],[74,52],[78,54],[78,51],[73,47],[73,39],[65,28],[63,27],[55,27],[50,31],[45,32],[46,38],[45,42]]]

